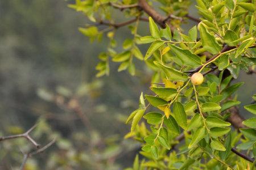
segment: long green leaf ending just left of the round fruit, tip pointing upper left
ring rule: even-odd
[[[157,61],[154,61],[154,63],[156,66],[160,67],[160,69],[163,70],[163,72],[166,74],[166,76],[169,80],[185,82],[188,79],[187,74],[182,73],[181,71],[178,71],[171,67],[164,66],[162,63],[159,63]]]

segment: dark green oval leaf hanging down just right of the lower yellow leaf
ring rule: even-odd
[[[187,129],[187,114],[185,113],[185,110],[183,108],[183,105],[176,101],[174,103],[174,117],[177,123],[181,126],[183,129]]]

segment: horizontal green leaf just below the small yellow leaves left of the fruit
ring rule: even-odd
[[[174,99],[177,94],[177,90],[174,88],[164,88],[164,87],[151,87],[151,90],[155,92],[160,98],[170,101]]]

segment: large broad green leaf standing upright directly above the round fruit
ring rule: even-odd
[[[204,49],[212,54],[219,53],[221,49],[220,45],[218,45],[215,37],[207,31],[203,24],[199,25],[199,31]]]

